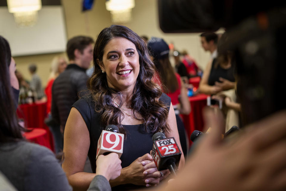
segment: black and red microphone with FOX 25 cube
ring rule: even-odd
[[[152,137],[153,149],[152,157],[157,169],[169,169],[173,175],[176,175],[178,170],[176,162],[180,161],[181,151],[174,137],[166,138],[164,133],[155,133]]]

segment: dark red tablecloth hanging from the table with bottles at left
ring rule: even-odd
[[[50,145],[54,148],[54,141],[52,133],[49,127],[46,126],[44,120],[47,116],[47,103],[33,103],[33,104],[21,104],[18,105],[17,115],[18,118],[24,119],[24,122],[28,128],[42,128],[46,130]],[[54,151],[54,149],[52,149]]]

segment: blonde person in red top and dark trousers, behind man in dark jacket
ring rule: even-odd
[[[57,123],[51,114],[52,106],[52,85],[61,73],[66,69],[67,61],[64,56],[55,56],[51,63],[51,73],[45,88],[45,93],[47,96],[47,118],[45,119],[46,125],[49,126],[55,141],[55,152],[59,153],[63,150],[63,138],[60,133],[60,124]]]

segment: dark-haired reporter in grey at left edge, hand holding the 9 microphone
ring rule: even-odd
[[[2,36],[0,65],[0,172],[19,191],[72,190],[52,151],[28,142],[22,135],[24,129],[17,122],[15,94],[11,87],[17,85],[14,82],[18,82],[15,61],[11,57],[7,40]],[[116,153],[100,155],[97,160],[97,174],[89,190],[111,190],[108,181],[119,176],[120,163]]]

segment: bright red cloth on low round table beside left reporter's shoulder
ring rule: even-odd
[[[40,128],[34,128],[34,129],[29,129],[32,130],[30,132],[25,132],[23,136],[29,140],[32,143],[37,143],[40,145],[43,145],[45,147],[48,147],[49,149],[53,150],[52,145],[50,144],[49,141],[49,136],[47,134],[47,131],[45,129],[40,129]]]

